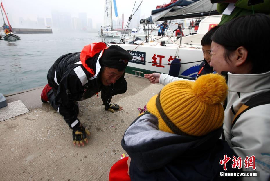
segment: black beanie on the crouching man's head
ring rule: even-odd
[[[128,60],[132,60],[132,56],[118,45],[112,45],[105,49],[100,64],[105,67],[115,68],[124,71],[127,67]],[[125,61],[127,60],[127,61]]]

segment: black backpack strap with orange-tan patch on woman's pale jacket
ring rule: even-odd
[[[264,104],[270,104],[270,91],[259,94],[249,99],[249,101],[247,101],[246,103],[244,103],[235,114],[235,117],[232,122],[232,127],[237,121],[237,119],[241,116],[241,114],[243,114],[244,112],[246,112],[247,110],[253,107],[256,107],[258,105],[264,105]]]

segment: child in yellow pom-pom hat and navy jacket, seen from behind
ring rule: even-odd
[[[222,132],[226,80],[207,74],[195,82],[176,81],[147,103],[145,114],[121,141],[131,158],[131,180],[239,180],[221,177],[224,155],[237,156]],[[226,171],[237,171],[227,164]]]

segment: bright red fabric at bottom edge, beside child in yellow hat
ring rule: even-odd
[[[127,175],[127,159],[128,157],[125,157],[111,167],[109,181],[130,181],[130,177]]]

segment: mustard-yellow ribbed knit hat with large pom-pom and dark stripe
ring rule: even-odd
[[[149,100],[147,110],[158,118],[159,130],[203,136],[222,126],[227,89],[218,74],[202,75],[195,82],[175,81]]]

